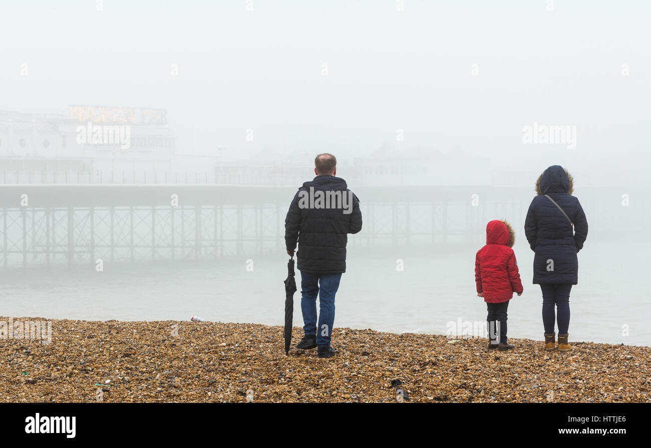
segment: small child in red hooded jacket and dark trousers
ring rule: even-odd
[[[483,297],[488,307],[488,348],[510,350],[506,342],[506,309],[513,293],[522,295],[522,283],[513,247],[516,234],[506,221],[490,221],[486,225],[486,245],[475,257],[477,296]],[[497,325],[495,322],[499,322]],[[499,339],[497,339],[499,329]]]

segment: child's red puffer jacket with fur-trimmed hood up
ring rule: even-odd
[[[523,290],[516,254],[511,249],[514,242],[516,234],[506,221],[486,225],[486,245],[475,257],[475,283],[488,303],[511,300],[513,292]]]

